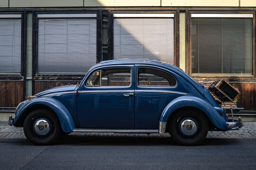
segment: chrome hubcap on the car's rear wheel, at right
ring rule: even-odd
[[[192,136],[197,132],[197,125],[192,119],[185,119],[180,125],[180,130],[185,136]]]

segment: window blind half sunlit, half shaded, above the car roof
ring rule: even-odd
[[[157,59],[174,64],[173,17],[114,17],[113,32],[114,59]]]

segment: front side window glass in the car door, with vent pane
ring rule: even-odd
[[[86,86],[129,86],[131,70],[129,68],[106,68],[94,71],[86,82]]]

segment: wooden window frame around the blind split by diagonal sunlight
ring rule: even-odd
[[[108,59],[114,59],[114,14],[174,14],[174,66],[180,66],[180,57],[179,57],[179,11],[174,10],[157,10],[153,8],[149,9],[112,9],[109,11],[109,52]]]

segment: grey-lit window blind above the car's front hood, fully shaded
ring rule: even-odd
[[[96,64],[96,18],[38,18],[38,73],[85,74]]]

